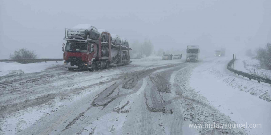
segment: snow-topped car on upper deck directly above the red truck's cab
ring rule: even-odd
[[[67,30],[68,39],[98,40],[100,35],[96,27],[89,24],[79,24]]]

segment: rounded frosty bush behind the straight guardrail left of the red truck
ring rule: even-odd
[[[30,51],[26,48],[21,48],[10,54],[10,59],[37,59],[38,55],[35,51]]]

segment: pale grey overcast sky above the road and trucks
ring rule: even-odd
[[[40,58],[62,58],[65,27],[91,24],[156,50],[201,50],[224,46],[232,52],[271,42],[270,0],[0,0],[0,59],[19,48]]]

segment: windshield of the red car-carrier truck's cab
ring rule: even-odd
[[[67,52],[87,52],[87,43],[67,42]]]

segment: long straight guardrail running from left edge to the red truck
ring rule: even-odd
[[[34,62],[47,62],[47,61],[63,61],[63,59],[5,59],[5,60],[0,60],[0,62],[18,62],[22,64],[26,63],[34,63]]]

